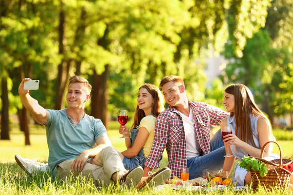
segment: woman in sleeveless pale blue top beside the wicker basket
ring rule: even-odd
[[[254,102],[251,91],[243,84],[230,85],[225,89],[224,102],[231,116],[221,121],[221,129],[230,126],[232,133],[224,138],[225,148],[233,153],[226,157],[223,165],[223,176],[228,177],[233,168],[235,157],[241,161],[243,156],[260,157],[261,148],[268,141],[274,141],[271,124]],[[238,127],[238,128],[236,128]],[[272,154],[272,145],[264,150],[264,157],[278,157]],[[250,184],[251,174],[236,165],[233,182],[238,186]]]

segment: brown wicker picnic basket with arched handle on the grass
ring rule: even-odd
[[[279,147],[280,159],[273,161],[273,162],[278,161],[279,164],[275,164],[271,161],[263,159],[264,149],[265,149],[266,145],[269,143],[275,143]],[[269,172],[268,172],[267,176],[261,177],[259,172],[251,171],[251,182],[252,182],[252,189],[253,190],[256,190],[259,184],[261,186],[266,187],[268,190],[272,190],[272,187],[274,187],[274,186],[279,186],[279,187],[287,187],[288,186],[288,183],[289,183],[290,177],[291,177],[291,173],[289,171],[287,171],[286,169],[284,169],[282,166],[290,164],[292,162],[292,160],[291,159],[283,159],[281,146],[277,142],[269,141],[269,142],[265,143],[265,145],[263,146],[263,148],[261,150],[260,157],[254,157],[254,158],[264,162],[267,165]],[[282,163],[283,160],[286,161],[285,164]]]

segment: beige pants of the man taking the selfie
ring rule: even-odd
[[[107,185],[113,180],[112,175],[118,171],[126,171],[118,151],[113,146],[105,147],[97,156],[84,163],[84,169],[80,173],[70,171],[74,159],[65,160],[57,165],[57,176],[65,179],[68,176],[90,176],[96,185]]]

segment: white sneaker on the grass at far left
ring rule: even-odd
[[[38,162],[37,159],[22,158],[19,155],[15,155],[14,158],[21,169],[30,175],[36,172],[47,172],[50,170],[48,164]]]

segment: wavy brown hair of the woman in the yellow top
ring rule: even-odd
[[[155,85],[145,83],[142,85],[138,90],[141,88],[145,88],[148,93],[154,98],[154,104],[152,105],[151,114],[154,117],[158,117],[158,115],[164,110],[164,101],[162,98],[162,94],[159,88]],[[146,117],[146,114],[143,110],[139,109],[138,105],[136,106],[136,111],[134,114],[134,122],[131,128],[135,128],[140,124],[140,121]]]

